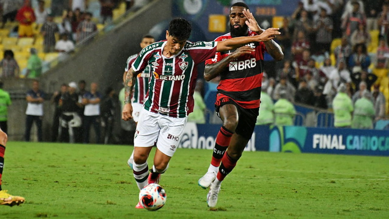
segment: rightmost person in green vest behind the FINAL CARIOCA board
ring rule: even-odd
[[[371,98],[370,92],[365,91],[362,98],[355,102],[354,117],[351,124],[353,129],[373,129],[375,110]]]

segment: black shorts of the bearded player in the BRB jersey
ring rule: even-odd
[[[252,132],[254,132],[255,123],[257,122],[257,117],[259,115],[259,108],[243,108],[231,97],[223,95],[223,97],[217,98],[217,101],[215,102],[218,117],[220,117],[219,109],[226,104],[233,104],[238,109],[238,126],[235,129],[235,132],[243,136],[245,139],[251,139]]]

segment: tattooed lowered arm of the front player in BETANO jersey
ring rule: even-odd
[[[122,119],[128,121],[132,119],[132,105],[131,105],[131,96],[133,93],[133,88],[135,85],[135,80],[137,78],[137,72],[128,70],[125,75],[124,81],[124,107],[122,111]]]

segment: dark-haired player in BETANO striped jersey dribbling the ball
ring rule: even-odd
[[[149,92],[134,136],[133,174],[138,188],[158,183],[166,171],[182,136],[187,115],[193,111],[193,92],[197,65],[214,57],[216,52],[228,51],[242,45],[273,39],[278,28],[269,28],[263,34],[236,37],[222,42],[189,42],[191,25],[182,18],[173,19],[166,30],[166,41],[153,43],[140,51],[126,74],[125,104],[122,119],[130,120],[133,111],[130,97],[137,74],[146,66],[152,68]],[[254,49],[248,48],[247,53]],[[158,141],[157,141],[158,139]],[[157,150],[154,165],[148,173],[147,157],[154,142]],[[138,203],[136,208],[140,208]]]

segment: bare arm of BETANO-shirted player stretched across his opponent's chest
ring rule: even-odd
[[[251,42],[264,42],[274,39],[276,35],[280,35],[278,32],[280,28],[268,28],[263,31],[262,34],[250,37],[235,37],[232,39],[227,39],[222,42],[218,42],[216,46],[216,51],[228,51],[232,49],[239,48]]]

